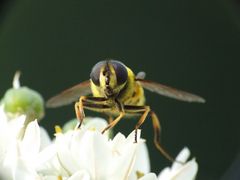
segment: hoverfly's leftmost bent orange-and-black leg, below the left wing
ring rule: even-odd
[[[81,96],[79,98],[79,101],[75,103],[75,113],[77,116],[77,119],[79,120],[78,128],[81,127],[82,121],[85,117],[85,113],[83,108],[89,107],[89,108],[102,108],[100,103],[103,104],[103,102],[107,101],[104,97],[87,97],[87,96]],[[100,106],[97,106],[97,104],[100,104]]]

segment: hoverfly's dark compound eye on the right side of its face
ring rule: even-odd
[[[127,81],[128,72],[124,64],[119,61],[111,61],[117,77],[117,84],[121,85]]]

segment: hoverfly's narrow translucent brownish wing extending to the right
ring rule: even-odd
[[[167,96],[170,98],[174,98],[181,101],[187,101],[187,102],[198,102],[198,103],[205,102],[205,99],[203,99],[198,95],[191,94],[189,92],[185,92],[182,90],[177,90],[175,88],[172,88],[160,83],[156,83],[156,82],[144,80],[144,79],[136,79],[136,81],[138,81],[143,86],[143,88],[163,96]]]

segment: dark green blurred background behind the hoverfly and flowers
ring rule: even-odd
[[[120,60],[135,73],[145,71],[146,79],[207,100],[191,104],[146,92],[169,153],[189,147],[199,163],[197,179],[232,179],[226,172],[240,150],[239,1],[9,0],[0,13],[2,95],[16,70],[23,85],[48,99],[88,79],[99,60]],[[41,125],[53,134],[55,124],[74,117],[72,105],[47,109]],[[114,130],[127,135],[136,122],[121,121]],[[152,143],[150,119],[142,129],[158,173],[170,163]]]

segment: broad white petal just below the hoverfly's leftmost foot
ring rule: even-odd
[[[99,131],[87,130],[80,138],[74,139],[70,148],[77,166],[87,170],[92,179],[104,179],[111,157],[107,137]]]

